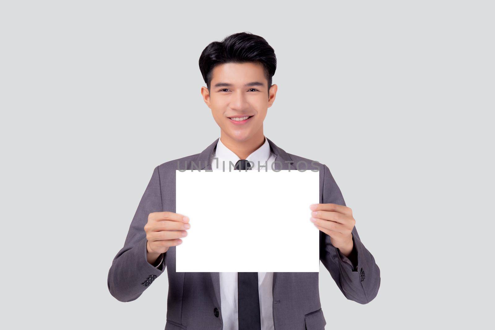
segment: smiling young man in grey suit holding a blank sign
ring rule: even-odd
[[[297,170],[305,163],[320,175],[320,203],[308,208],[308,220],[319,229],[320,260],[347,299],[370,302],[380,286],[380,269],[360,241],[352,211],[329,168],[287,153],[263,135],[263,120],[277,94],[273,48],[259,36],[234,34],[204,48],[199,68],[206,83],[201,94],[220,127],[220,138],[200,153],[154,169],[124,247],[108,272],[112,296],[125,302],[137,299],[167,268],[166,330],[324,329],[318,273],[175,271],[176,246],[196,220],[190,223],[187,215],[175,213],[177,169],[222,169],[225,164],[229,170],[232,162],[235,169],[261,165]],[[297,244],[287,253],[294,248]]]

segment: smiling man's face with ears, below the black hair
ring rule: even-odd
[[[276,93],[277,85],[272,85],[268,94],[263,66],[257,63],[218,64],[213,68],[210,93],[201,88],[222,134],[235,141],[263,135],[263,120]]]

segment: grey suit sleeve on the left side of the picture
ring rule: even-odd
[[[132,219],[124,247],[120,249],[108,271],[108,290],[117,300],[133,301],[165,270],[167,253],[157,267],[148,263],[145,225],[151,212],[162,212],[158,167],[153,171],[148,187]],[[159,257],[160,258],[160,257]]]

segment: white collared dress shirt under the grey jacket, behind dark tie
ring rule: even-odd
[[[218,158],[218,162],[216,159]],[[211,160],[212,170],[231,171],[239,158],[232,150],[227,148],[225,144],[218,139],[216,150]],[[265,137],[265,143],[254,150],[246,158],[254,163],[251,170],[257,170],[258,165],[268,167],[260,167],[260,171],[271,170],[275,155],[270,150],[270,144]],[[229,167],[229,161],[234,165]],[[259,163],[258,163],[259,162]],[[225,165],[224,165],[225,164]],[[252,163],[251,163],[252,165]],[[258,272],[258,293],[259,293],[259,309],[261,317],[261,330],[273,330],[273,273]],[[223,329],[239,330],[238,319],[238,291],[237,291],[237,273],[220,273],[220,311],[223,319]]]

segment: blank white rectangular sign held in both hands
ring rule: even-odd
[[[318,272],[319,172],[176,170],[177,272]]]

